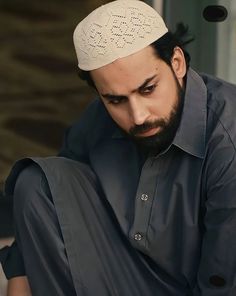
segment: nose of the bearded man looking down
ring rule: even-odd
[[[150,112],[141,98],[130,98],[130,117],[135,125],[143,124],[150,116]]]

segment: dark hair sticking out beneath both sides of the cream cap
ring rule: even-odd
[[[190,64],[190,55],[185,50],[185,46],[193,41],[194,38],[191,37],[188,33],[188,26],[183,25],[182,23],[177,24],[176,31],[174,33],[167,32],[161,38],[156,40],[151,44],[156,51],[157,56],[166,62],[167,65],[171,66],[171,59],[174,53],[176,46],[180,47],[183,50],[187,69]],[[79,77],[86,81],[89,86],[92,86],[96,89],[96,86],[91,78],[89,71],[84,71],[79,69]]]

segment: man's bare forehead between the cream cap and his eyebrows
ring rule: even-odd
[[[128,91],[141,85],[147,78],[158,74],[160,58],[152,46],[113,63],[91,71],[98,91]]]

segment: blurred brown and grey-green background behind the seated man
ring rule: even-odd
[[[25,156],[57,154],[65,128],[95,96],[77,76],[72,34],[83,17],[107,2],[0,0],[0,246],[13,236],[10,198],[2,194],[10,168]],[[179,22],[189,26],[194,69],[236,83],[235,0],[145,2],[170,29]],[[223,10],[203,14],[212,5],[226,8],[224,21]],[[0,295],[5,284],[1,278]]]

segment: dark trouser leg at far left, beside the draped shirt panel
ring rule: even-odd
[[[37,165],[17,179],[14,219],[32,294],[76,295],[48,183]]]

